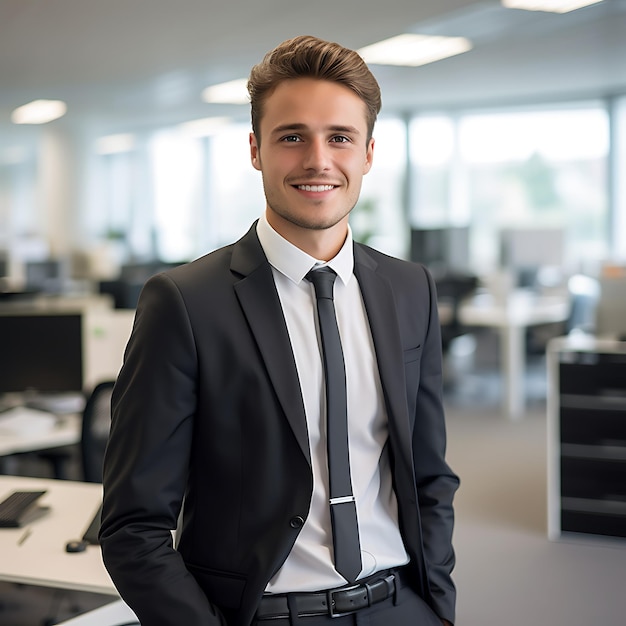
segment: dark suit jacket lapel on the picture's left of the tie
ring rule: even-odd
[[[272,268],[256,235],[256,222],[234,245],[231,270],[241,276],[235,283],[235,293],[283,411],[310,464],[309,439],[300,381]]]

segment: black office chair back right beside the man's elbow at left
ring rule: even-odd
[[[112,380],[98,383],[85,404],[80,438],[83,480],[85,482],[102,482],[104,450],[111,428],[111,394],[114,384]]]

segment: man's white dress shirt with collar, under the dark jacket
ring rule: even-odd
[[[324,265],[281,235],[265,215],[257,226],[272,266],[285,316],[306,413],[313,496],[304,526],[287,560],[266,591],[316,591],[344,585],[332,559],[326,452],[324,370],[318,339],[315,291],[304,277]],[[352,234],[327,263],[336,273],[335,308],[346,364],[348,439],[352,489],[356,499],[363,569],[361,577],[408,562],[398,528],[387,446],[387,414],[374,344],[358,281],[354,276]]]

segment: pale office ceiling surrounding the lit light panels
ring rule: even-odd
[[[247,117],[200,92],[246,76],[298,34],[359,48],[403,32],[464,35],[475,47],[419,68],[373,66],[387,111],[626,93],[626,0],[566,15],[497,0],[2,0],[0,130],[36,98],[65,100],[65,124],[111,131]]]

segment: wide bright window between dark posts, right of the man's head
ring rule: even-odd
[[[420,117],[410,137],[412,223],[471,224],[475,271],[498,266],[505,227],[563,228],[574,270],[608,254],[602,105]]]

